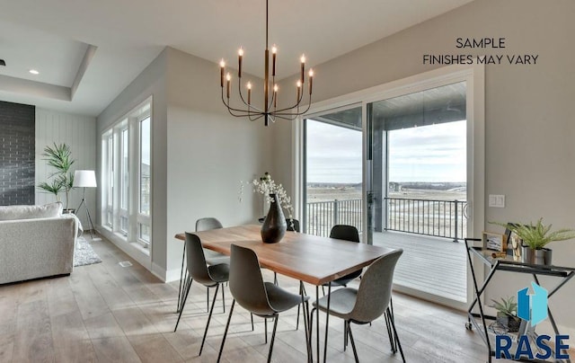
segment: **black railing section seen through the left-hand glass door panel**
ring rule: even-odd
[[[316,201],[305,208],[305,232],[310,235],[327,237],[335,225],[355,226],[361,233],[361,199]]]

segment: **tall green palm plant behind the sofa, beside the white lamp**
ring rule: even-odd
[[[68,197],[74,185],[74,173],[70,168],[75,162],[72,158],[70,146],[66,144],[57,145],[54,143],[54,146],[46,146],[44,148],[42,156],[44,156],[44,160],[48,162],[49,166],[56,169],[56,171],[49,174],[48,178],[51,179],[50,182],[41,182],[38,187],[41,190],[54,194],[58,201],[60,201],[59,193],[63,191],[66,196],[65,210],[69,211]],[[72,210],[72,212],[74,212],[74,210]]]

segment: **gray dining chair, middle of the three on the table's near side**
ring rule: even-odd
[[[309,309],[305,297],[298,294],[292,294],[288,290],[279,288],[271,282],[264,282],[261,276],[260,262],[258,256],[251,249],[232,244],[232,262],[230,264],[229,288],[234,300],[230,307],[230,313],[227,318],[224,338],[219,348],[217,361],[219,362],[226,343],[226,335],[229,329],[232,314],[234,314],[234,305],[237,302],[245,310],[264,319],[274,319],[273,331],[271,332],[270,352],[268,353],[268,362],[271,360],[273,343],[276,337],[278,327],[279,313],[304,304],[304,309]],[[307,315],[307,314],[306,314]],[[311,354],[311,344],[308,336],[307,319],[305,319],[305,344],[307,347],[308,357]],[[267,337],[267,334],[266,334]]]

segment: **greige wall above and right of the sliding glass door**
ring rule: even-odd
[[[535,66],[485,68],[485,196],[505,194],[506,208],[485,208],[484,217],[486,222],[544,217],[553,226],[575,227],[574,17],[571,0],[474,1],[315,66],[314,101],[438,67],[423,65],[423,54],[538,54]],[[507,48],[456,49],[460,37],[504,37]],[[279,125],[275,129],[282,135],[289,128]],[[276,163],[291,163],[292,151],[283,146],[274,156]],[[484,228],[503,232],[497,226]],[[573,266],[574,243],[551,244],[555,264]],[[489,295],[513,295],[526,281],[501,273]],[[550,300],[555,317],[571,329],[575,328],[573,297],[575,284],[570,284]]]

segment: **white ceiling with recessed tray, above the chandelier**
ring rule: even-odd
[[[270,0],[279,76],[295,74],[302,53],[318,65],[471,1]],[[245,71],[263,73],[264,0],[0,0],[0,9],[2,101],[97,116],[166,46],[230,65],[242,46]]]

